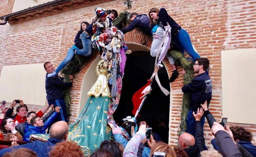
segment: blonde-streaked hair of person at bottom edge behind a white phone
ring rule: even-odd
[[[152,157],[155,152],[165,152],[165,157],[177,157],[174,149],[163,142],[158,142],[152,147],[149,157]]]

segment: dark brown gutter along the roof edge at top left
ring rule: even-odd
[[[44,8],[47,8],[47,7],[52,7],[54,5],[64,4],[64,3],[67,3],[67,2],[70,2],[70,1],[71,0],[54,0],[52,2],[40,4],[38,6],[31,7],[31,8],[28,8],[28,9],[24,9],[22,11],[17,11],[15,13],[10,13],[8,15],[1,16],[0,20],[4,20],[4,22],[0,23],[0,25],[7,24],[9,18],[13,18],[13,17],[19,16],[19,15],[24,15],[24,14],[27,14],[27,13],[30,13],[30,12],[33,12],[33,11],[36,11],[36,10],[39,10],[39,9],[44,9]]]

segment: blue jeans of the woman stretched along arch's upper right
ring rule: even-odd
[[[173,42],[176,42],[177,46],[181,49],[181,52],[184,54],[184,50],[188,55],[192,57],[193,60],[200,58],[200,55],[195,51],[192,46],[190,36],[184,29],[178,31],[176,38],[172,39]]]

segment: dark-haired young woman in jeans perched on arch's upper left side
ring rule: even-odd
[[[59,64],[54,73],[48,74],[48,77],[54,76],[68,64],[74,55],[89,56],[91,55],[91,36],[86,33],[85,29],[89,26],[88,22],[82,22],[80,31],[75,35],[75,44],[69,49],[66,58]]]

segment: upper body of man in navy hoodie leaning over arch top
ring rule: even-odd
[[[150,23],[149,17],[146,14],[138,14],[138,13],[131,13],[129,18],[130,24],[124,29],[121,29],[121,32],[123,34],[133,31],[135,28],[141,29],[142,32],[152,35],[151,31],[153,27],[155,27],[155,24]]]

